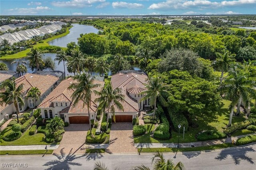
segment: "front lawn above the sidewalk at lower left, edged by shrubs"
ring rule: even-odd
[[[4,141],[2,138],[5,135],[8,135],[12,132],[12,127],[6,127],[0,135],[0,145],[8,146],[8,145],[49,145],[49,144],[58,144],[58,143],[46,143],[44,141],[45,135],[43,133],[36,133],[35,135],[29,135],[29,129],[26,130],[22,136],[15,141]]]

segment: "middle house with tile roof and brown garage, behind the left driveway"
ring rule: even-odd
[[[87,106],[83,107],[83,101],[79,101],[76,106],[72,102],[73,89],[68,89],[68,86],[74,82],[73,78],[67,78],[47,96],[47,98],[38,106],[41,109],[42,118],[52,118],[55,116],[64,118],[68,123],[89,123]],[[104,81],[94,80],[100,87],[94,89],[100,91],[104,86]],[[92,94],[90,103],[91,119],[96,118],[96,109],[98,104],[94,100],[98,96]]]

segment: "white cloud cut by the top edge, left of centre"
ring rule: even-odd
[[[92,6],[92,4],[97,2],[105,2],[106,0],[70,0],[70,1],[54,1],[53,6],[57,7],[70,7],[70,8],[84,8]]]

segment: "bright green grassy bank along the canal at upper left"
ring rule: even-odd
[[[71,27],[72,27],[72,26],[71,26]],[[68,35],[68,34],[70,33],[69,29],[70,29],[71,27],[67,27],[67,30],[66,30],[65,33],[62,33],[62,34],[60,34],[60,35],[55,35],[55,36],[50,37],[50,38],[48,38],[48,39],[44,39],[44,40],[43,40],[43,41],[44,41],[43,43],[38,43],[38,42],[37,42],[37,44],[36,44],[36,45],[33,45],[33,47],[34,47],[34,48],[38,48],[38,47],[50,46],[50,45],[48,44],[48,42],[50,42],[50,41],[52,41],[52,40],[54,40],[54,39],[57,39],[57,38],[64,37],[64,36]],[[66,49],[65,47],[60,47],[60,48]],[[18,58],[23,58],[23,57],[26,57],[26,56],[27,56],[26,54],[27,54],[28,52],[30,52],[30,49],[31,49],[31,48],[26,49],[26,50],[21,51],[21,52],[18,52],[18,53],[16,53],[16,54],[12,54],[12,55],[4,55],[4,56],[2,56],[0,59],[18,59]],[[44,51],[44,52],[47,53],[47,52],[49,52],[49,51]]]

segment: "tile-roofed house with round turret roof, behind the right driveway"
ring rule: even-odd
[[[136,73],[117,73],[111,77],[111,85],[115,88],[120,88],[124,94],[124,101],[120,102],[124,107],[124,111],[115,107],[116,122],[132,122],[136,118],[138,111],[145,107],[150,107],[149,98],[141,101],[140,94],[145,90],[144,84],[148,76],[145,74]],[[111,115],[110,115],[111,116]]]

